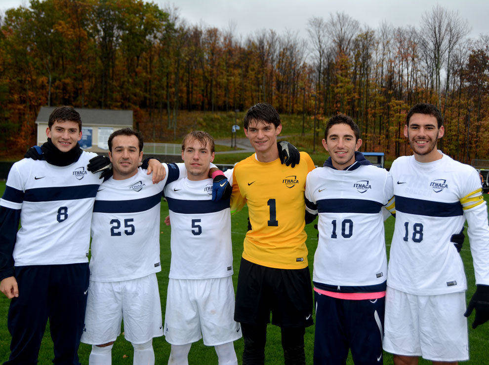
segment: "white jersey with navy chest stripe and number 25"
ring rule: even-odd
[[[100,185],[93,206],[90,280],[112,282],[161,271],[160,206],[163,187],[179,176],[163,164],[166,176],[153,184],[147,170]]]

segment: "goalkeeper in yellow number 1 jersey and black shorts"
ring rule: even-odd
[[[263,364],[266,328],[281,327],[285,364],[305,364],[304,332],[312,321],[312,288],[305,245],[306,175],[311,157],[300,152],[294,168],[281,164],[280,116],[269,104],[252,106],[244,134],[255,153],[236,164],[231,211],[248,205],[234,319],[244,337],[243,364]]]

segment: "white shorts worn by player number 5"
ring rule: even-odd
[[[217,346],[240,338],[241,326],[234,321],[231,276],[169,279],[163,334],[172,345],[203,338],[204,345]]]

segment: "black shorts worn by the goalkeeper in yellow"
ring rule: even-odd
[[[312,310],[308,267],[276,269],[241,259],[234,311],[236,322],[308,327],[313,325]]]

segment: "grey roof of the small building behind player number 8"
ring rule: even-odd
[[[41,107],[36,123],[47,123],[49,115],[56,107]],[[82,117],[83,126],[88,125],[126,125],[132,127],[132,110],[75,108]]]

